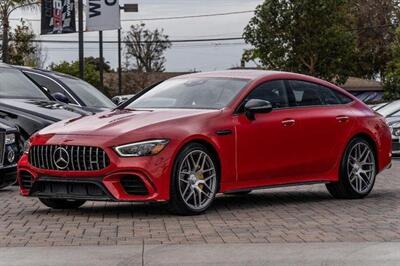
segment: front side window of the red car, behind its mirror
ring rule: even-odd
[[[284,108],[289,106],[283,80],[269,81],[255,88],[246,98],[269,101],[273,108]]]

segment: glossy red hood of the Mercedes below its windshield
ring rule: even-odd
[[[113,110],[91,116],[70,119],[53,124],[42,131],[42,135],[96,135],[122,136],[144,127],[173,126],[173,121],[187,121],[194,117],[208,118],[219,110],[155,109],[155,110]],[[151,132],[151,131],[149,131]]]

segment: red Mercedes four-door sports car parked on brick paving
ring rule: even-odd
[[[344,90],[293,73],[233,70],[169,79],[113,111],[51,125],[19,161],[21,194],[52,208],[87,200],[168,202],[325,183],[363,198],[391,163],[385,120]]]

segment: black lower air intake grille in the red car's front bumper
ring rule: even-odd
[[[100,182],[82,180],[59,181],[45,178],[35,183],[30,195],[45,198],[112,200]]]

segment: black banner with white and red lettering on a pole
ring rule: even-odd
[[[42,0],[41,34],[76,32],[74,0]]]

